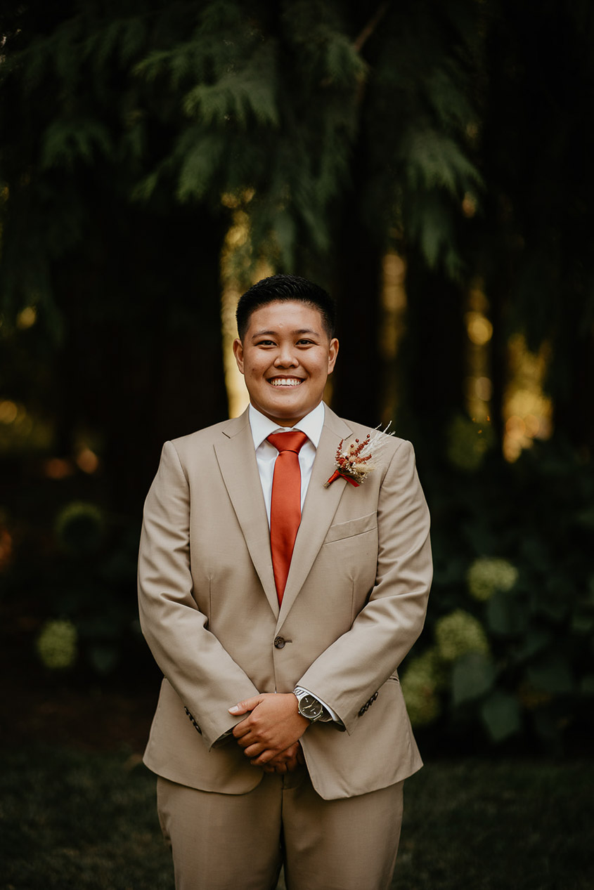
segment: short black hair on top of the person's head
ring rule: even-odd
[[[330,294],[313,281],[299,278],[298,275],[271,275],[270,278],[257,281],[237,303],[237,331],[243,340],[249,327],[252,312],[266,303],[289,303],[297,301],[306,303],[317,309],[321,314],[324,330],[330,337],[334,336],[336,326],[336,306]]]

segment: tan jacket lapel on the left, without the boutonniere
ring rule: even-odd
[[[278,616],[279,603],[270,554],[270,530],[247,410],[224,427],[223,435],[216,442],[215,451],[249,555],[266,599]]]

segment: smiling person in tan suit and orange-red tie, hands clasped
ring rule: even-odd
[[[421,766],[397,673],[432,575],[413,449],[323,403],[338,341],[320,287],[264,279],[237,319],[249,407],[165,444],[142,525],[163,672],[144,762],[175,886],[273,890],[284,863],[289,890],[380,890]]]

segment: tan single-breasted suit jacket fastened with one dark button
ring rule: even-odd
[[[359,488],[334,470],[341,439],[368,427],[325,422],[281,609],[248,412],[167,442],[146,500],[139,558],[142,632],[164,679],[144,755],[191,788],[243,794],[261,781],[227,708],[299,684],[342,719],[301,739],[321,797],[385,788],[419,769],[396,668],[417,639],[432,564],[411,443],[386,437]],[[213,747],[215,746],[215,747]]]

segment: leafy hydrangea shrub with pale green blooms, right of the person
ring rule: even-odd
[[[513,465],[487,455],[468,473],[422,473],[435,578],[403,664],[411,720],[433,736],[538,739],[558,752],[592,729],[594,473],[556,441]]]

